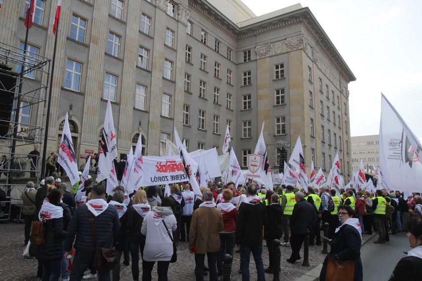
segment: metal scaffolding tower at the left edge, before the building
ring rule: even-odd
[[[28,153],[34,149],[34,145],[38,145],[41,149],[44,142],[51,60],[37,53],[28,50],[25,52],[24,49],[0,42],[0,63],[2,76],[16,79],[16,85],[12,88],[6,87],[0,80],[0,90],[13,95],[10,120],[0,120],[0,124],[8,127],[7,134],[0,137],[0,151],[7,158],[6,163],[1,167],[7,177],[5,182],[1,180],[0,184],[10,197],[9,208],[11,208],[13,201],[20,202],[20,194],[26,186],[26,181],[19,178],[27,176],[28,181],[34,181],[34,178],[29,177],[33,172],[36,174],[34,182],[38,184],[42,176],[39,169],[41,157],[37,157],[35,171],[33,171],[32,158],[28,157]],[[12,69],[20,72],[13,72]],[[17,104],[18,100],[19,104]],[[22,112],[28,110],[30,110],[30,121],[26,124],[21,117]],[[18,115],[18,122],[15,122],[16,115]],[[13,143],[15,143],[14,149],[12,149]],[[15,152],[12,152],[13,150]],[[3,213],[6,214],[6,212]],[[8,215],[10,216],[10,209]],[[4,220],[1,217],[0,213],[0,220]]]

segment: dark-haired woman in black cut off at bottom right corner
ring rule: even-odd
[[[418,280],[422,275],[422,217],[413,218],[407,224],[409,244],[413,248],[407,252],[394,268],[389,281]]]

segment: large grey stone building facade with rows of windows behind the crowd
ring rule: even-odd
[[[29,45],[52,58],[57,0],[35,2]],[[23,42],[27,5],[5,1],[0,42]],[[221,153],[228,124],[245,167],[265,122],[266,144],[300,135],[307,164],[328,172],[338,152],[347,177],[355,80],[300,4],[257,17],[240,0],[62,1],[47,154],[66,112],[77,155],[97,152],[110,99],[121,154],[141,134],[145,155],[164,155],[173,127],[188,151]],[[30,122],[45,122],[42,108],[33,112]]]

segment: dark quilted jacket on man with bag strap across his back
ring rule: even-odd
[[[91,234],[87,205],[77,207],[73,213],[64,243],[64,250],[70,251],[75,240],[75,249],[92,252],[95,249]],[[113,231],[120,229],[120,220],[116,208],[108,204],[107,209],[99,216],[94,216],[94,229],[98,247],[111,248],[113,246]]]

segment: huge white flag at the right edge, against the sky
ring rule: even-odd
[[[381,96],[379,164],[387,187],[420,192],[422,182],[421,142],[387,98]]]

